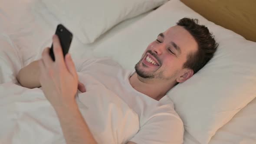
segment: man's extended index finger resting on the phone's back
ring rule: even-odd
[[[62,52],[62,47],[60,45],[60,41],[57,35],[53,35],[53,53],[54,53],[56,62],[64,65],[64,56]]]

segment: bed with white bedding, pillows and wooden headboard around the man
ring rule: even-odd
[[[158,33],[183,17],[193,17],[213,32],[220,46],[202,70],[167,94],[184,122],[184,144],[255,144],[256,2],[148,1],[114,5],[111,2],[116,0],[102,0],[100,5],[111,10],[93,0],[62,0],[62,5],[60,0],[2,1],[0,143],[65,143],[56,114],[40,88],[31,91],[16,80],[19,70],[40,59],[43,49],[51,45],[58,23],[74,32],[69,51],[74,61],[107,57],[134,69]],[[103,10],[95,13],[97,19],[88,18],[88,12],[94,12],[89,3]]]

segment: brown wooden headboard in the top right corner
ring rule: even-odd
[[[256,0],[181,0],[207,20],[256,42]]]

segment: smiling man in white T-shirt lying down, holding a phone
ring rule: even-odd
[[[183,123],[166,93],[206,65],[217,46],[207,27],[199,25],[197,20],[183,18],[149,44],[135,65],[135,72],[101,60],[82,63],[80,71],[117,93],[138,114],[140,130],[127,144],[181,144]],[[42,59],[21,69],[17,79],[28,88],[42,86],[59,117],[67,144],[95,144],[92,130],[75,101],[77,88],[85,92],[84,85],[78,81],[70,55],[63,59],[57,36],[53,36],[53,47],[55,62],[46,48]],[[121,86],[113,86],[115,83]]]

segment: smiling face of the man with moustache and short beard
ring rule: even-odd
[[[182,26],[173,26],[150,43],[135,65],[143,78],[176,80],[184,75],[184,63],[190,53],[197,52],[197,42]]]

